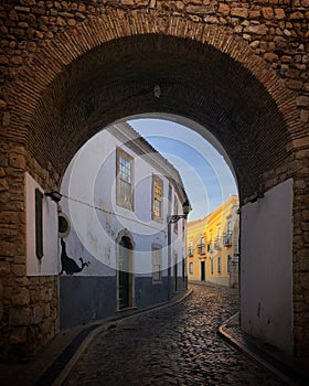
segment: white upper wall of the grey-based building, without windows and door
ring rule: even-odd
[[[116,205],[117,146],[135,159],[134,212]],[[168,179],[160,175],[142,157],[137,157],[131,149],[124,146],[107,130],[90,139],[72,160],[63,178],[61,192],[64,196],[61,204],[63,212],[68,215],[72,223],[71,234],[65,238],[67,255],[77,262],[79,257],[89,262],[88,267],[77,274],[78,276],[115,275],[113,270],[117,268],[115,240],[122,229],[129,229],[132,236],[136,276],[149,276],[151,272],[152,243],[162,245],[162,265],[163,269],[168,268],[166,222],[168,202],[163,201],[163,223],[152,221],[152,173],[163,180],[163,192],[167,197]],[[94,208],[94,206],[104,211]],[[179,207],[181,208],[180,202]],[[179,222],[178,236],[173,235],[172,239],[173,249],[178,253],[179,259],[185,255],[184,243],[185,238],[182,238],[182,226]]]

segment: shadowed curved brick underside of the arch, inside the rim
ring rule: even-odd
[[[179,115],[210,130],[233,163],[242,196],[286,157],[285,119],[248,69],[209,44],[161,34],[104,43],[66,66],[40,99],[28,146],[40,163],[49,154],[63,173],[97,131],[145,112]]]

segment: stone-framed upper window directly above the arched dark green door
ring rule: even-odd
[[[134,210],[132,167],[132,157],[117,148],[117,204],[131,211]]]

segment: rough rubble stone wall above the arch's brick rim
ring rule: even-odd
[[[308,122],[308,0],[4,1],[0,6],[0,65],[7,87],[33,63],[36,52],[58,34],[76,35],[83,23],[113,11],[120,21],[130,19],[131,29],[137,30],[137,10],[158,20],[174,17],[228,29],[284,78],[286,87],[295,94],[300,120]],[[113,26],[121,28],[117,23]],[[11,117],[7,93],[2,94],[0,108],[3,127],[8,127]]]

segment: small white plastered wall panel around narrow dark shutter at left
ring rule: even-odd
[[[25,173],[25,215],[26,215],[26,275],[57,275],[57,207],[49,197],[43,197],[43,257],[35,254],[35,189],[44,193],[39,183]]]

